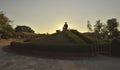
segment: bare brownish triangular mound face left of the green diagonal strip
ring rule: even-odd
[[[40,38],[33,43],[41,44],[76,44],[71,38],[69,38],[64,32],[55,33],[50,36]]]

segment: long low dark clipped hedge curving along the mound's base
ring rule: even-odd
[[[63,52],[92,52],[91,45],[80,44],[34,44],[34,43],[21,43],[12,42],[11,46],[18,49],[38,50],[38,51],[63,51]]]

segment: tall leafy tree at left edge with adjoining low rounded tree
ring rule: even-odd
[[[34,33],[34,30],[29,26],[16,26],[16,28],[12,27],[12,20],[10,20],[3,11],[0,12],[0,35],[4,36],[13,36],[15,32],[28,32]]]

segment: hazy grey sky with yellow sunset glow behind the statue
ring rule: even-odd
[[[0,0],[0,11],[14,21],[13,26],[27,25],[36,33],[52,33],[64,22],[69,28],[88,31],[101,19],[117,18],[120,22],[120,0]]]

